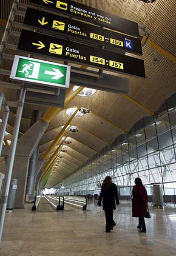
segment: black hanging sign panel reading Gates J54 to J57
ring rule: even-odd
[[[144,61],[35,32],[21,32],[17,49],[68,62],[145,77]]]

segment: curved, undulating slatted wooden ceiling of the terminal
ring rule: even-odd
[[[1,1],[0,13],[0,38],[5,29],[6,20],[13,1]],[[27,4],[27,0],[21,0]],[[103,147],[110,145],[113,140],[123,133],[128,133],[137,120],[149,115],[150,111],[155,112],[164,100],[176,91],[176,65],[174,56],[175,47],[175,27],[176,27],[176,5],[175,0],[156,0],[155,3],[144,3],[140,0],[77,0],[79,3],[102,9],[109,13],[136,21],[140,25],[145,25],[150,31],[150,40],[143,47],[142,58],[145,61],[146,78],[127,77],[130,80],[130,97],[121,94],[113,94],[97,91],[91,97],[77,96],[67,107],[82,107],[91,112],[82,117],[74,117],[71,125],[78,128],[78,132],[68,131],[65,136],[71,137],[69,145],[65,145],[67,150],[61,153],[61,162],[56,166],[54,176],[49,181],[49,187],[65,179],[82,163],[90,159],[94,154],[100,152]],[[24,11],[21,9],[21,11]],[[23,22],[23,17],[17,16],[16,21]],[[20,31],[13,28],[14,31]],[[9,43],[18,43],[18,37],[10,36]],[[27,54],[20,51],[6,49],[8,54]],[[134,56],[132,54],[128,54]],[[38,56],[34,57],[38,58]],[[157,61],[155,61],[157,58]],[[52,61],[42,57],[43,60]],[[55,60],[54,60],[55,61]],[[56,62],[56,61],[55,61]],[[62,63],[62,62],[60,62]],[[12,61],[3,60],[0,68],[10,70]],[[108,71],[104,73],[110,74]],[[111,73],[113,74],[113,73]],[[116,75],[116,74],[114,74]],[[9,78],[0,75],[0,80],[8,82]],[[84,85],[82,85],[84,86]],[[16,91],[12,89],[0,89],[6,95],[7,100],[14,101]],[[139,103],[139,104],[138,104]],[[145,108],[142,108],[144,106]],[[23,135],[30,127],[32,111],[38,109],[43,115],[48,109],[46,106],[25,104],[23,118],[20,125],[20,134]],[[0,118],[3,111],[0,112]],[[40,141],[39,158],[45,153],[49,145],[61,131],[61,126],[68,121],[69,117],[65,110],[61,111],[49,124],[48,129],[43,134]],[[15,120],[15,109],[11,108],[7,131],[11,134]],[[7,136],[10,139],[11,135]],[[52,153],[56,150],[55,147]],[[50,154],[48,159],[52,156]]]

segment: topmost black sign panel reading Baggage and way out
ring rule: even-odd
[[[86,20],[99,26],[139,36],[138,24],[136,22],[71,0],[29,0],[29,4],[44,6],[45,9],[54,9],[62,14],[69,14],[75,18],[79,17],[81,20]]]

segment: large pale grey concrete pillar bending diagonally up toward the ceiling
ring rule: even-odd
[[[23,134],[17,142],[12,179],[18,180],[15,208],[23,208],[26,194],[29,160],[40,142],[41,137],[48,128],[48,123],[39,119]],[[9,146],[3,146],[2,156],[7,157]],[[0,163],[0,172],[4,173],[5,162]]]

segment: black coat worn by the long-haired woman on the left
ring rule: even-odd
[[[103,210],[116,209],[116,205],[119,205],[119,197],[117,194],[117,186],[114,183],[112,183],[112,185],[108,189],[101,187],[98,205],[101,205],[102,199],[103,199]],[[115,199],[116,199],[116,203],[115,203]]]

